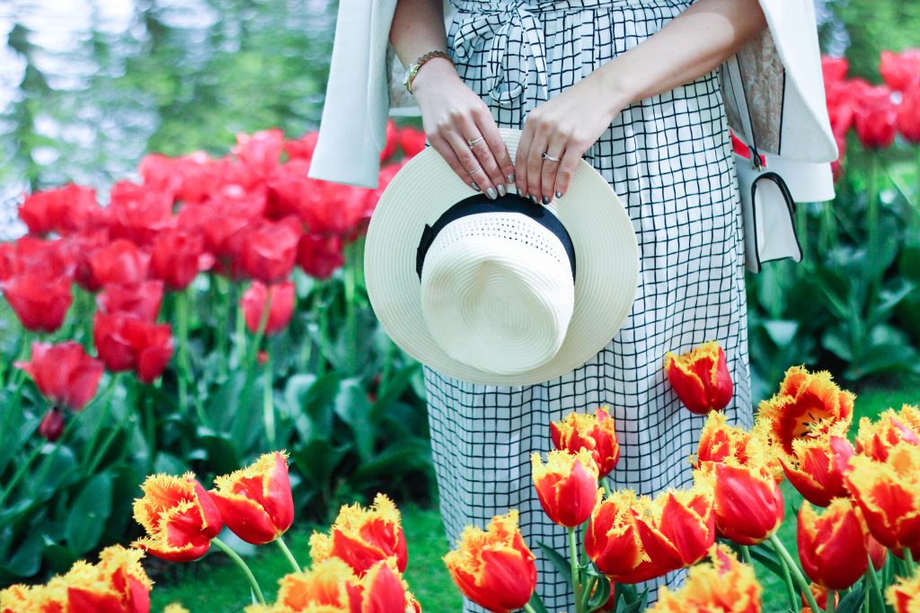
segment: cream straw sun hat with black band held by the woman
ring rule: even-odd
[[[512,159],[521,131],[499,129]],[[623,203],[580,160],[547,206],[496,200],[426,147],[377,203],[367,291],[387,335],[444,375],[529,385],[578,368],[626,321],[638,244]]]

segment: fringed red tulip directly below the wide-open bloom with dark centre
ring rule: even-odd
[[[846,438],[847,425],[837,422],[827,432],[792,441],[792,454],[779,454],[789,482],[812,505],[827,506],[837,497],[847,497],[844,477],[855,455]]]

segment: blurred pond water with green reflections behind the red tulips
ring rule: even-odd
[[[0,205],[71,180],[104,192],[147,152],[315,129],[335,14],[334,0],[0,0]]]

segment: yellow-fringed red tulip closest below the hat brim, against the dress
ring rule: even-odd
[[[598,477],[613,471],[620,459],[620,445],[616,440],[614,418],[606,406],[598,407],[594,414],[569,413],[559,422],[549,423],[549,436],[553,446],[572,453],[588,449],[597,463]]]

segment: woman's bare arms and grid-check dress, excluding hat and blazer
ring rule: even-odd
[[[567,555],[566,531],[544,516],[529,466],[532,451],[552,448],[550,420],[609,404],[622,453],[611,473],[617,486],[639,494],[689,486],[686,459],[703,418],[682,409],[663,358],[714,339],[735,383],[725,413],[753,422],[742,221],[715,69],[765,17],[757,0],[451,4],[457,14],[445,31],[441,0],[398,0],[390,30],[404,65],[432,50],[455,63],[424,62],[411,84],[431,146],[489,198],[513,188],[559,207],[583,156],[624,200],[640,248],[627,323],[581,368],[526,387],[425,369],[449,539],[518,508],[537,556],[537,592],[557,611],[573,595],[537,542]],[[515,159],[497,126],[523,130]],[[683,576],[666,579],[675,586]],[[650,602],[660,583],[650,582]],[[479,610],[465,600],[464,611]]]

